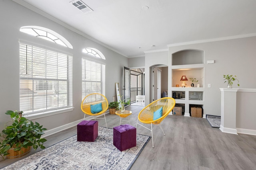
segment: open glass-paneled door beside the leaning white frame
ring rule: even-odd
[[[127,102],[127,100],[130,99],[130,69],[127,67],[123,69],[123,81],[124,96],[122,99]]]

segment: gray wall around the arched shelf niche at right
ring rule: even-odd
[[[223,74],[237,76],[240,87],[235,82],[233,88],[256,88],[255,44],[256,37],[247,37],[169,47],[169,59],[172,58],[173,53],[185,49],[204,51],[204,114],[220,116],[219,88],[227,87],[227,84],[224,84]],[[215,63],[207,64],[208,60],[214,60]],[[169,65],[171,65],[171,60],[169,60]],[[208,88],[207,84],[211,84],[211,88]],[[168,88],[170,87],[171,84],[168,84]],[[254,110],[251,112],[255,113]]]

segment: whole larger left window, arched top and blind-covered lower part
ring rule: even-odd
[[[64,37],[44,27],[24,26],[20,31],[73,48]],[[58,46],[51,49],[33,41],[19,42],[20,109],[28,117],[72,111],[72,54]]]

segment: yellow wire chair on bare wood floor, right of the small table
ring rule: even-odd
[[[137,120],[136,128],[137,128],[137,125],[141,125],[142,127],[145,127],[144,125],[140,124],[139,121],[142,122],[142,123],[147,123],[147,124],[150,123],[151,124],[151,129],[149,129],[147,127],[145,127],[145,128],[151,131],[152,147],[153,148],[154,148],[154,141],[153,141],[152,124],[153,125],[158,125],[160,127],[160,129],[162,130],[162,132],[164,133],[160,123],[172,111],[174,106],[175,106],[174,98],[169,98],[169,97],[160,98],[160,99],[150,103],[148,106],[144,107],[144,109],[142,109],[140,111],[140,113],[138,114],[138,120]],[[159,119],[153,120],[154,111],[160,109],[161,107],[163,107],[162,117],[160,117]]]

